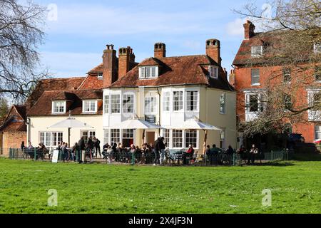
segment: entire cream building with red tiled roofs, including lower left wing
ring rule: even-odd
[[[171,148],[191,144],[203,150],[203,131],[175,129],[195,116],[222,129],[208,133],[208,144],[235,147],[235,91],[220,65],[220,41],[206,41],[206,54],[199,56],[166,57],[164,43],[156,43],[154,49],[154,57],[136,63],[131,47],[119,48],[117,57],[113,45],[107,45],[103,63],[86,78],[57,79],[58,83],[49,79],[60,88],[39,86],[39,93],[28,102],[31,143],[44,142],[53,148],[59,141],[68,142],[68,129],[48,127],[71,113],[93,127],[71,129],[71,145],[81,136],[96,136],[101,146],[106,142],[141,145],[142,130],[117,129],[118,123],[138,116],[165,128],[147,130],[145,142],[163,135]]]

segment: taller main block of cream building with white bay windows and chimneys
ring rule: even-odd
[[[220,41],[209,39],[205,47],[205,55],[166,57],[165,43],[156,43],[154,56],[130,70],[131,48],[119,48],[117,66],[116,50],[108,45],[102,66],[104,142],[142,145],[143,130],[117,129],[137,115],[165,128],[147,130],[144,142],[161,135],[170,148],[203,150],[203,131],[177,129],[195,116],[222,129],[209,132],[209,145],[235,147],[235,91],[221,66]]]

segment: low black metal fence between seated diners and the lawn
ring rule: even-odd
[[[95,156],[94,152],[58,152],[58,162],[101,162],[114,165],[194,165],[194,166],[215,166],[215,165],[242,165],[245,163],[267,162],[273,160],[289,160],[287,151],[271,151],[257,155],[244,153],[228,154],[219,152],[215,155],[188,155],[182,150],[165,151],[156,157],[154,152],[103,152]],[[42,160],[51,161],[53,151],[41,151],[38,149],[9,149],[9,158],[16,160]]]

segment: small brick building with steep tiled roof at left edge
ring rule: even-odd
[[[26,107],[13,105],[0,125],[0,154],[9,155],[9,148],[20,148],[26,143]]]

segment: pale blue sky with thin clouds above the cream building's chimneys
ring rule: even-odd
[[[131,46],[136,61],[153,56],[153,44],[166,44],[167,56],[205,53],[205,40],[221,42],[223,67],[228,71],[243,40],[243,21],[233,9],[248,1],[39,1],[55,4],[49,14],[41,62],[55,78],[86,76],[102,62],[106,44],[116,50]],[[256,1],[260,7],[265,1]],[[53,8],[51,8],[53,9]],[[51,13],[54,11],[51,11]],[[53,16],[54,15],[54,16]]]

